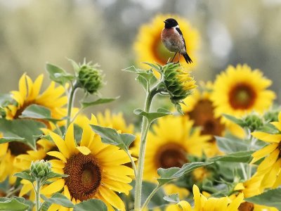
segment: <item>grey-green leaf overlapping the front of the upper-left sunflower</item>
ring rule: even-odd
[[[49,121],[59,121],[55,120],[51,117],[51,110],[44,107],[39,106],[37,104],[32,104],[25,108],[25,110],[20,115],[21,118],[32,118],[32,119],[39,119],[39,120],[49,120]]]

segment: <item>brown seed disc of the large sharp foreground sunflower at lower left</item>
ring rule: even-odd
[[[93,198],[102,177],[101,167],[93,155],[78,153],[67,160],[63,170],[70,175],[65,178],[65,184],[72,197],[79,200]]]

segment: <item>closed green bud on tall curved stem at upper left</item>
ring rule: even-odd
[[[100,89],[103,84],[101,70],[98,70],[97,65],[84,63],[80,66],[78,73],[79,86],[90,94],[94,94]]]

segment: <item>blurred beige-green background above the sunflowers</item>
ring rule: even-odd
[[[67,58],[86,58],[105,74],[103,96],[120,96],[89,112],[131,114],[142,107],[143,90],[121,70],[139,65],[133,51],[139,27],[159,13],[179,15],[200,32],[197,81],[247,63],[273,80],[280,102],[281,0],[0,0],[0,92],[17,90],[23,72],[32,79],[44,73],[46,87],[46,62],[72,71]]]

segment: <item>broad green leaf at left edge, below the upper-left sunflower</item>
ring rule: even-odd
[[[44,127],[46,127],[44,123],[34,120],[0,119],[0,132],[4,136],[4,139],[0,139],[0,141],[20,141],[22,143],[26,143],[32,148],[36,148],[37,138],[34,136],[41,135],[41,128]]]

